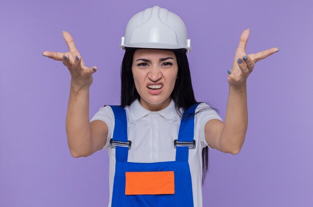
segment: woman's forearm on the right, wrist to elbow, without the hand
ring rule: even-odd
[[[225,152],[239,152],[244,142],[247,124],[246,83],[242,87],[229,85],[224,127],[219,139]]]

